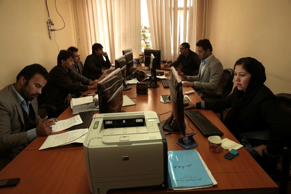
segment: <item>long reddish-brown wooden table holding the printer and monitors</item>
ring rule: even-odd
[[[170,103],[160,102],[160,95],[168,95],[169,89],[164,88],[160,81],[158,83],[160,87],[149,88],[148,95],[137,95],[136,85],[131,85],[131,90],[123,92],[132,98],[136,105],[123,107],[122,109],[126,112],[156,111],[159,114],[170,111]],[[183,92],[191,89],[191,87],[183,87]],[[92,91],[94,90],[88,92]],[[192,102],[201,101],[196,93],[188,96]],[[212,111],[200,111],[224,133],[222,138],[228,138],[238,143]],[[160,119],[165,120],[170,114],[161,115]],[[58,120],[73,116],[69,107],[58,117]],[[188,118],[185,115],[186,133],[192,133],[187,120]],[[196,129],[191,121],[189,121],[189,124],[197,132],[193,137],[198,146],[194,149],[200,153],[212,172],[217,181],[217,186],[185,191],[152,190],[151,187],[123,188],[110,190],[108,193],[274,193],[274,191],[278,190],[278,186],[244,148],[239,149],[239,155],[233,160],[227,160],[223,155],[228,150],[220,148],[219,153],[210,152],[207,138]],[[54,134],[66,131],[68,130]],[[168,151],[183,150],[176,143],[181,136],[180,134],[166,136]],[[37,137],[27,148],[40,148],[46,138]],[[0,193],[90,193],[83,145],[69,144],[41,151],[25,149],[0,172],[0,179],[17,177],[20,178],[17,186],[0,188]]]

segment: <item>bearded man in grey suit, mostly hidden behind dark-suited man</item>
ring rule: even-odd
[[[86,84],[86,85],[94,85],[95,83],[98,83],[98,80],[92,81],[91,79],[88,79],[84,76],[82,76],[84,65],[81,61],[81,56],[79,54],[79,49],[76,47],[69,47],[68,51],[71,51],[74,58],[74,67],[71,69],[72,79],[73,83],[77,84]]]

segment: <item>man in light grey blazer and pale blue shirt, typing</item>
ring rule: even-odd
[[[223,66],[212,54],[212,45],[208,39],[196,43],[198,56],[201,59],[197,76],[186,76],[178,72],[186,81],[183,86],[192,86],[201,97],[203,94],[222,94],[223,92]]]

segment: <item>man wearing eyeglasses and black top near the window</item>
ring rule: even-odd
[[[177,60],[173,63],[165,64],[164,67],[177,67],[180,63],[182,63],[182,69],[180,70],[181,72],[190,76],[198,75],[199,65],[201,63],[198,55],[190,50],[190,45],[187,42],[180,45],[179,51],[180,55]]]

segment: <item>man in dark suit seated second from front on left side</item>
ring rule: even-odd
[[[55,106],[60,115],[68,106],[72,97],[79,97],[79,92],[97,88],[73,83],[71,70],[74,66],[74,55],[71,51],[61,50],[58,54],[57,65],[49,72],[49,79],[45,86],[45,104]],[[48,114],[51,114],[48,112]]]

